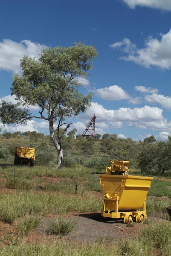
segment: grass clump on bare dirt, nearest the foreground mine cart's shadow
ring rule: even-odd
[[[64,218],[58,216],[50,223],[49,234],[68,235],[77,225],[77,218]]]

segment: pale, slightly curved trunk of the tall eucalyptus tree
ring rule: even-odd
[[[53,120],[49,120],[50,137],[51,137],[53,144],[55,145],[56,150],[58,151],[58,160],[57,160],[56,169],[62,169],[63,163],[64,163],[63,150],[61,149],[61,143],[58,142],[58,140],[56,140],[56,138],[55,138],[53,123],[54,123]]]

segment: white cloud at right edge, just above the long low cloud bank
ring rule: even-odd
[[[146,95],[144,99],[151,105],[156,105],[159,103],[162,107],[171,111],[171,97],[155,93],[152,95]]]

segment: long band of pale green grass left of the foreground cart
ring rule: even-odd
[[[87,195],[65,195],[62,193],[35,194],[32,192],[16,192],[0,195],[0,220],[13,223],[21,215],[66,214],[70,212],[99,212],[102,200],[91,193]]]

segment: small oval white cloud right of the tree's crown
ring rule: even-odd
[[[126,93],[121,87],[118,85],[112,85],[110,87],[104,87],[100,89],[92,90],[96,96],[99,96],[101,99],[105,100],[122,100],[122,99],[130,99],[130,95]]]

